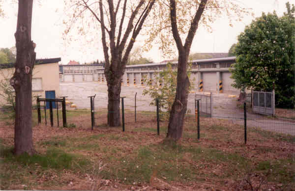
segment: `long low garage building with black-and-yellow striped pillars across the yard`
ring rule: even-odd
[[[217,91],[220,93],[237,93],[238,89],[231,86],[230,69],[236,57],[210,58],[192,60],[190,79],[196,91]],[[155,75],[166,67],[167,63],[151,63],[127,65],[122,77],[122,85],[146,86],[154,84]],[[63,65],[60,69],[60,82],[106,82],[104,68],[98,65]],[[172,62],[173,69],[177,62]],[[147,78],[148,81],[143,81]]]

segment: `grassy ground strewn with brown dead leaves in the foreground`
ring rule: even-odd
[[[111,180],[110,186],[101,188],[104,190],[132,186],[139,190],[145,185],[156,189],[163,184],[169,188],[181,185],[183,190],[208,185],[215,190],[237,190],[250,169],[258,177],[267,177],[262,190],[279,189],[281,184],[285,190],[295,186],[294,136],[249,129],[244,145],[242,126],[201,118],[198,140],[195,118],[187,117],[181,142],[175,143],[163,141],[167,121],[160,122],[157,135],[151,112],[138,112],[136,123],[133,114],[126,113],[125,132],[103,123],[91,131],[89,114],[75,112],[80,115],[68,115],[67,119],[76,128],[39,125],[33,129],[38,152],[33,156],[11,153],[13,127],[0,121],[0,130],[6,132],[0,136],[1,189],[91,190],[93,180],[100,185],[103,179]],[[105,117],[105,112],[97,112],[96,123]],[[246,184],[244,188],[250,189]]]

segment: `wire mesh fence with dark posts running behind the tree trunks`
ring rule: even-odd
[[[286,109],[281,109],[281,112],[280,109],[276,109],[277,115],[271,116],[255,113],[251,109],[251,103],[247,102],[244,105],[244,103],[232,102],[233,99],[221,95],[196,95],[194,98],[188,100],[182,133],[184,138],[198,139],[200,137],[200,140],[222,140],[233,144],[262,144],[263,142],[286,140],[294,146],[294,109],[289,109],[287,112]],[[199,100],[199,112],[197,111],[197,100]],[[98,106],[94,108],[94,98],[92,101],[93,108],[90,110],[66,110],[67,127],[84,127],[90,130],[92,126],[94,129],[108,126],[107,115],[112,111]],[[89,104],[91,106],[90,100]],[[124,115],[122,115],[121,103],[119,110],[121,124],[124,125],[125,131],[146,131],[157,135],[159,126],[159,134],[161,136],[167,134],[168,112],[159,109],[159,120],[157,120],[155,104],[151,106],[147,102],[136,103],[136,97],[124,98],[123,106]],[[42,123],[50,125],[50,110],[45,109],[46,104],[41,105],[41,108]],[[57,108],[53,109],[54,126],[62,126],[60,108],[60,103],[57,103]]]

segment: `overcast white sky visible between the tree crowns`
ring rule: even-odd
[[[295,3],[295,0],[240,0],[246,8],[252,8],[255,17],[260,17],[262,12],[273,12],[279,16],[286,11],[286,2]],[[5,18],[0,19],[0,48],[15,46],[14,33],[17,23],[17,5],[4,3]],[[62,40],[61,25],[63,0],[42,0],[42,5],[34,5],[32,18],[32,40],[37,44],[35,52],[37,58],[61,57],[61,63],[66,64],[69,60],[81,63],[92,60],[103,60],[100,39],[95,46],[87,46],[86,42],[70,42],[66,44]],[[254,17],[254,18],[255,18]],[[212,25],[212,33],[199,27],[193,41],[191,53],[227,53],[232,44],[237,42],[237,36],[254,19],[252,16],[245,17],[242,22],[233,23],[229,26],[227,19],[219,19]],[[159,62],[163,55],[155,47],[144,56]]]

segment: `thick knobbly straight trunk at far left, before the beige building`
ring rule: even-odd
[[[16,63],[10,84],[15,89],[14,151],[16,155],[35,152],[32,139],[32,69],[36,53],[31,41],[33,0],[19,0],[15,33]]]

